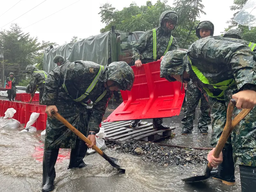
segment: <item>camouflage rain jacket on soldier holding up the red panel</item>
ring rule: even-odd
[[[161,26],[162,20],[164,16],[172,11],[165,11],[161,14],[159,19],[159,27],[156,28],[156,59],[160,59],[168,47],[172,31],[164,30],[164,27]],[[173,37],[172,44],[169,48],[169,51],[179,49],[179,45],[176,39]],[[143,59],[150,59],[154,60],[153,55],[153,31],[148,30],[146,31],[140,39],[133,45],[133,57],[134,61],[136,60],[143,60]]]

